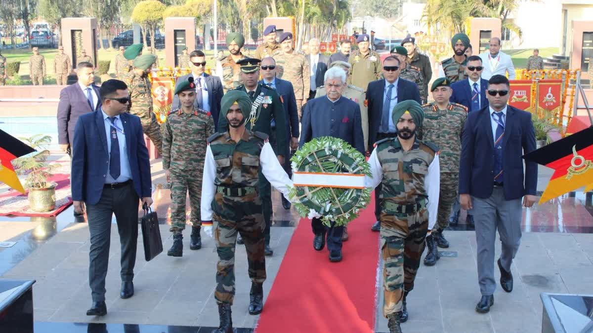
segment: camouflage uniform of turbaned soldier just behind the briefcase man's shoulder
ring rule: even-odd
[[[152,112],[151,85],[148,76],[138,76],[134,71],[131,71],[127,73],[124,82],[127,84],[132,102],[129,112],[140,117],[144,134],[151,139],[159,155],[162,155],[161,127]]]

